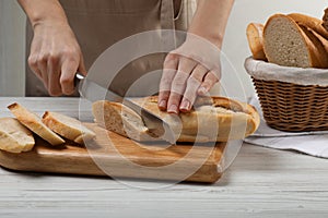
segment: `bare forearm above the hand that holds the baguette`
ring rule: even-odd
[[[189,33],[204,37],[221,48],[234,0],[198,0]]]

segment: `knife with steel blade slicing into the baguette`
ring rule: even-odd
[[[173,129],[159,116],[140,107],[129,98],[122,97],[109,88],[98,85],[96,82],[87,78],[87,76],[85,77],[82,74],[77,73],[75,78],[80,81],[79,93],[81,97],[84,97],[92,102],[104,99],[120,102],[136,111],[142,118],[145,126],[149,129],[149,135],[151,137],[159,137],[171,144],[176,143],[176,136]]]

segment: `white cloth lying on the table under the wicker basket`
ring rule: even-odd
[[[262,117],[257,96],[249,104],[255,106],[261,117],[258,130],[247,138],[246,143],[277,149],[293,149],[315,157],[328,158],[328,131],[283,132],[269,128]]]

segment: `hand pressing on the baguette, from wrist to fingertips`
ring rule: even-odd
[[[198,95],[206,95],[221,76],[220,49],[209,40],[188,34],[169,52],[160,83],[159,107],[171,113],[189,111]]]

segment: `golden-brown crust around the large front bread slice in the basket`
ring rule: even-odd
[[[267,48],[269,44],[267,39],[267,34],[268,34],[267,32],[269,26],[271,25],[271,22],[274,22],[276,19],[284,19],[286,22],[292,24],[294,28],[297,31],[297,33],[300,34],[300,37],[303,40],[303,45],[305,46],[309,58],[308,64],[305,68],[328,66],[328,61],[326,60],[326,58],[323,58],[326,57],[326,50],[324,50],[323,47],[315,45],[315,43],[309,39],[309,35],[307,35],[308,32],[304,33],[304,31],[298,26],[298,24],[293,19],[284,14],[274,14],[270,16],[263,28],[263,41],[265,41],[263,48],[269,62],[280,64],[274,60],[273,56],[269,52],[269,49]],[[298,66],[298,65],[294,65],[294,66]]]

